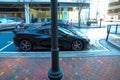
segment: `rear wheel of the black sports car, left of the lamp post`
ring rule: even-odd
[[[32,43],[29,40],[21,40],[20,41],[20,49],[22,51],[30,51],[32,50]]]

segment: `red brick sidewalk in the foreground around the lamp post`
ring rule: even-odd
[[[120,57],[60,58],[62,80],[120,80]],[[0,80],[49,80],[50,58],[0,58]]]

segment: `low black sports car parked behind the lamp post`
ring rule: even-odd
[[[14,44],[22,51],[30,51],[35,46],[51,47],[50,27],[32,27],[14,34]],[[90,42],[87,37],[78,35],[62,27],[58,27],[58,40],[60,49],[71,49],[74,51],[84,49]]]

